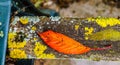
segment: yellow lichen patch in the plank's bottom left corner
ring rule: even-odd
[[[25,51],[20,49],[13,49],[10,51],[11,58],[27,58]]]

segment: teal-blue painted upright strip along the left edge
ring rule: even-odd
[[[5,65],[5,55],[7,48],[7,36],[10,20],[11,0],[0,0],[0,31],[4,36],[0,37],[0,65]]]

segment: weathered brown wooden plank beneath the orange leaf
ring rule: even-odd
[[[21,18],[21,17],[16,17]],[[45,54],[53,53],[55,55],[55,58],[76,58],[76,59],[90,59],[90,60],[120,60],[120,43],[119,39],[117,41],[112,40],[90,40],[85,39],[85,28],[87,27],[92,28],[92,32],[90,34],[103,31],[106,29],[115,29],[119,32],[119,24],[114,26],[107,26],[102,27],[98,25],[96,22],[89,22],[86,18],[61,18],[61,17],[23,17],[25,19],[28,18],[28,24],[21,24],[20,21],[15,20],[10,24],[11,32],[15,32],[14,29],[17,28],[17,32],[20,32],[20,30],[23,30],[24,33],[22,35],[31,34],[32,36],[28,36],[27,38],[30,39],[29,43],[27,42],[23,50],[26,52],[26,54],[32,56],[27,58],[37,58],[34,55],[34,52],[32,49],[34,49],[35,44],[32,42],[34,41],[33,38],[36,37],[38,41],[42,41],[35,32],[30,32],[31,27],[35,26],[36,30],[39,32],[44,32],[46,30],[54,30],[56,32],[65,34],[73,39],[75,39],[78,42],[81,42],[83,45],[95,48],[95,47],[104,47],[105,45],[112,45],[112,48],[102,51],[90,51],[85,54],[81,55],[71,55],[71,54],[63,54],[55,51],[54,49],[47,46],[44,42],[42,42],[43,45],[47,46],[47,50],[45,50]],[[38,20],[36,23],[34,23],[36,20]],[[102,17],[101,17],[102,19]],[[100,20],[101,20],[100,19]],[[106,18],[105,18],[106,19]],[[16,23],[15,23],[16,22]],[[102,22],[102,21],[101,21]],[[106,24],[106,23],[105,23]],[[76,28],[76,25],[78,26]],[[90,29],[91,31],[91,29]],[[111,32],[111,31],[109,31]],[[103,32],[104,33],[104,32]],[[119,34],[118,34],[119,35]],[[99,35],[98,35],[99,36]],[[11,48],[9,48],[11,51]]]

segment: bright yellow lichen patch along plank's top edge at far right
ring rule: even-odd
[[[120,24],[120,20],[117,18],[105,18],[105,17],[98,17],[98,18],[87,18],[88,22],[96,22],[101,27],[107,26],[115,26]]]

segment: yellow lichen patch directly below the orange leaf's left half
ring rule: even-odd
[[[37,58],[54,58],[55,55],[50,53],[46,54],[44,51],[47,49],[46,46],[42,45],[40,42],[35,43],[34,54]]]

